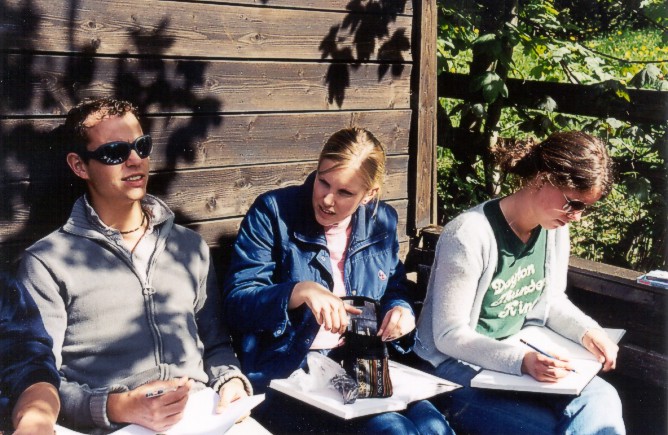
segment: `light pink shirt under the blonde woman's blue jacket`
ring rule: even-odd
[[[332,293],[338,297],[346,295],[346,285],[343,282],[343,268],[346,262],[348,241],[352,232],[350,220],[351,216],[348,216],[347,219],[338,224],[325,227],[325,238],[327,239],[327,249],[329,249],[329,260],[332,266],[332,279],[334,281]],[[340,334],[332,334],[321,326],[318,335],[313,339],[311,349],[332,349],[338,347],[340,338]]]

